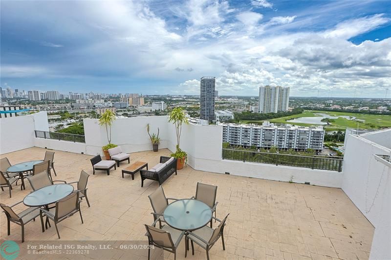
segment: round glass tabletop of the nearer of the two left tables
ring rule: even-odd
[[[28,194],[23,199],[23,204],[29,207],[42,207],[58,200],[64,199],[73,192],[70,184],[53,184]]]

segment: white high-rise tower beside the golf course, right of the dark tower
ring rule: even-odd
[[[289,87],[260,86],[259,113],[277,113],[287,111],[289,104]]]

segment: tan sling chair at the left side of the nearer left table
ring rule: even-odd
[[[35,218],[37,218],[40,215],[40,208],[39,207],[29,207],[28,209],[23,210],[21,213],[17,214],[12,209],[14,206],[18,205],[19,203],[22,203],[23,201],[20,201],[14,205],[7,206],[2,203],[0,203],[1,208],[4,210],[5,216],[7,216],[7,231],[8,236],[11,235],[11,222],[18,224],[22,227],[22,243],[24,242],[24,225],[30,222],[31,220],[35,221]]]

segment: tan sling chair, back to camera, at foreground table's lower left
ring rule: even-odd
[[[169,225],[164,225],[163,227],[156,228],[157,220],[155,220],[150,225],[145,225],[147,229],[148,244],[166,250],[174,254],[174,260],[176,260],[176,250],[178,249],[179,243],[182,240],[185,231],[180,231],[170,227]],[[186,245],[185,245],[186,246]],[[185,249],[186,251],[186,249]],[[148,247],[148,260],[151,257],[151,247]]]

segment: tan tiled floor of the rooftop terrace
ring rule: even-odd
[[[26,160],[42,160],[46,149],[28,148],[3,154],[12,164]],[[88,180],[88,199],[91,207],[82,202],[84,224],[75,216],[59,223],[61,240],[143,240],[144,224],[153,222],[152,207],[148,199],[158,184],[145,180],[140,185],[140,175],[131,180],[129,175],[123,179],[121,169],[129,164],[121,163],[108,176],[105,172],[92,175],[90,158],[92,156],[70,152],[54,151],[57,177],[55,180],[76,181],[80,171],[90,174]],[[160,156],[171,152],[162,149],[131,153],[130,159],[144,160],[149,165],[158,162]],[[178,171],[163,183],[167,197],[190,198],[195,195],[196,182],[217,185],[217,218],[227,213],[227,227],[224,231],[226,250],[217,243],[211,250],[211,259],[354,259],[369,258],[373,226],[352,203],[340,188],[327,188],[305,184],[253,179],[232,175],[197,171],[190,166]],[[19,186],[13,189],[12,198],[8,191],[0,193],[1,202],[12,204],[21,201],[31,192],[26,181],[26,190]],[[23,206],[20,207],[22,209]],[[20,240],[21,229],[11,224],[11,236],[7,236],[7,221],[0,214],[1,240]],[[52,226],[44,233],[40,221],[26,225],[26,246],[29,241],[58,240]],[[184,258],[182,240],[178,259]],[[115,253],[113,253],[115,252]],[[129,259],[125,251],[111,252],[113,259]],[[156,251],[155,257],[162,254]],[[139,250],[131,259],[146,259],[147,250]],[[28,258],[28,256],[21,256]],[[164,252],[165,258],[173,254]],[[102,258],[102,256],[97,256]],[[103,257],[106,258],[106,257]],[[187,259],[205,259],[205,250],[195,246],[195,255]]]

